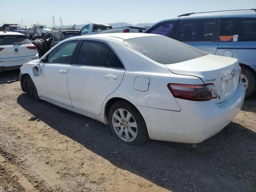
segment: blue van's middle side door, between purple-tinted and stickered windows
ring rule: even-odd
[[[175,39],[210,54],[218,47],[219,19],[184,19],[178,22]]]

